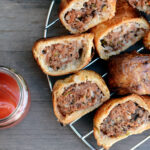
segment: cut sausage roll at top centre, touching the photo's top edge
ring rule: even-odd
[[[61,0],[59,18],[71,33],[82,33],[115,15],[116,0]]]

